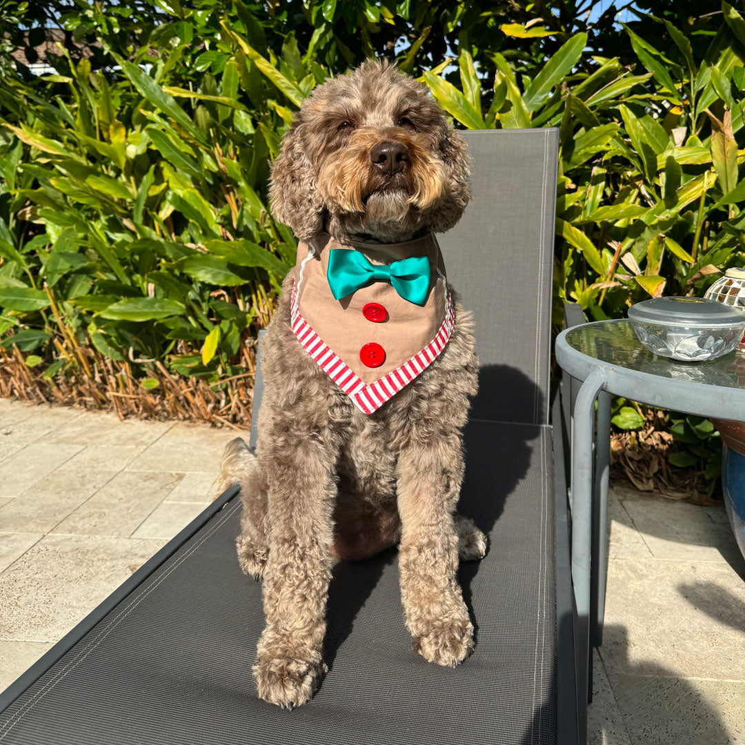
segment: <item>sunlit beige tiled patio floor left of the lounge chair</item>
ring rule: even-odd
[[[209,504],[235,434],[0,399],[0,690]]]

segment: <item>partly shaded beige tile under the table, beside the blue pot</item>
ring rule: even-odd
[[[703,507],[641,494],[624,496],[621,504],[658,559],[742,561],[729,524],[712,521]]]

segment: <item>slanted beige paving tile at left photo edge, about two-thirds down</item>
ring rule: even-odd
[[[69,460],[2,505],[0,529],[48,533],[116,475],[115,471],[76,468],[74,461],[75,458]]]

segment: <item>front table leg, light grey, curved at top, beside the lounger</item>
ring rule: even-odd
[[[592,558],[592,439],[595,399],[606,382],[602,370],[588,375],[574,405],[571,434],[571,578],[577,603],[577,708],[580,743],[586,741],[590,664],[590,559]]]

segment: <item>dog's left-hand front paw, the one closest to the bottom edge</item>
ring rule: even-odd
[[[310,699],[326,670],[323,661],[267,656],[256,660],[253,677],[264,701],[292,709]]]

